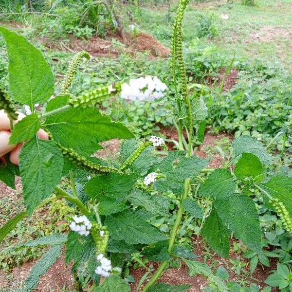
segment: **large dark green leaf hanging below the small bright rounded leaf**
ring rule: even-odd
[[[234,194],[216,200],[214,206],[226,228],[251,250],[262,254],[262,231],[254,201],[245,194]]]

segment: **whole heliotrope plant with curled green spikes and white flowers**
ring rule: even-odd
[[[63,246],[66,264],[73,262],[79,291],[78,271],[82,269],[90,291],[129,292],[125,267],[130,255],[137,253],[151,254],[151,260],[159,262],[157,270],[147,273],[144,283],[140,281],[143,292],[189,288],[186,284],[156,283],[173,259],[185,263],[190,275],[202,274],[219,291],[229,291],[206,264],[196,260],[191,247],[182,243],[178,234],[183,218],[199,219],[202,236],[218,255],[229,256],[229,237],[233,234],[259,258],[264,256],[256,189],[282,220],[285,230],[292,233],[292,179],[264,171],[273,158],[257,140],[250,136],[237,138],[230,160],[218,169],[206,168],[209,161],[193,155],[193,142],[201,133],[207,108],[199,94],[189,94],[187,89],[182,53],[182,20],[187,3],[180,1],[172,32],[175,96],[171,98],[175,100],[174,118],[179,130],[179,149],[174,151],[166,151],[164,140],[157,136],[137,140],[128,128],[112,122],[95,107],[114,95],[129,102],[160,99],[167,94],[163,81],[145,76],[74,96],[70,86],[78,64],[90,59],[88,53],[80,52],[69,64],[61,94],[54,97],[54,76],[41,53],[24,37],[0,27],[9,58],[9,91],[0,92],[0,109],[11,121],[9,143],[24,143],[19,167],[3,157],[0,179],[14,188],[15,176],[20,175],[27,207],[0,229],[0,240],[19,220],[50,201],[63,199],[75,206],[74,216],[68,217],[68,234],[37,238],[17,247],[51,246],[28,276],[25,292],[36,288],[38,278],[61,256]],[[180,76],[179,82],[176,76]],[[42,110],[36,111],[36,104]],[[24,105],[29,107],[29,115],[14,125],[16,110]],[[39,129],[47,132],[49,140],[38,138]],[[102,148],[100,142],[113,138],[123,139],[120,163],[108,164],[92,157]],[[161,149],[164,151],[157,151]],[[68,189],[60,186],[64,180],[69,182]],[[203,213],[198,197],[211,202],[207,212]],[[175,207],[170,206],[173,202]],[[161,231],[153,224],[157,218],[171,221],[173,214],[176,217],[170,231]]]

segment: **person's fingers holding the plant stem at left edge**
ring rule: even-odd
[[[18,119],[14,121],[14,124],[16,124],[18,121],[20,121],[24,117],[25,117],[24,114],[18,113]],[[10,130],[9,118],[7,114],[4,112],[4,110],[0,110],[0,157],[10,152],[9,160],[13,164],[18,165],[18,156],[19,156],[23,143],[8,145],[10,136],[11,136],[11,130]],[[43,139],[43,140],[49,139],[48,134],[42,129],[39,129],[37,131],[37,136],[39,139]]]

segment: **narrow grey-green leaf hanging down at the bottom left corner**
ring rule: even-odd
[[[49,251],[37,261],[25,281],[24,292],[30,292],[37,287],[39,277],[47,272],[61,254],[62,244],[58,244],[51,247]]]

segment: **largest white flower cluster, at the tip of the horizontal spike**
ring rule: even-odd
[[[141,101],[155,100],[164,97],[167,86],[157,77],[140,77],[130,79],[129,84],[122,85],[121,98]]]

